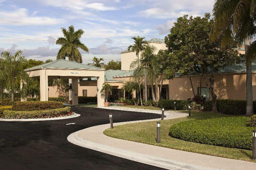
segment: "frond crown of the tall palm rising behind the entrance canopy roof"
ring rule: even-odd
[[[70,61],[82,63],[82,55],[79,49],[89,52],[85,44],[81,43],[80,38],[84,34],[82,29],[75,31],[74,26],[69,26],[69,29],[61,28],[64,37],[59,37],[56,40],[57,45],[61,45],[61,48],[57,54],[58,59],[69,58]]]

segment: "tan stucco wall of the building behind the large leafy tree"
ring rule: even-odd
[[[216,74],[214,90],[217,99],[246,100],[246,74]],[[192,76],[194,92],[200,87],[200,76]],[[209,84],[209,82],[208,82]],[[202,79],[202,87],[206,87]],[[256,74],[252,75],[253,99],[256,99]],[[189,77],[176,77],[169,81],[169,99],[186,100],[193,97]]]

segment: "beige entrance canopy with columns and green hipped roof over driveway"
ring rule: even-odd
[[[102,68],[60,59],[25,71],[29,77],[40,79],[41,101],[48,101],[48,79],[72,79],[72,105],[78,104],[78,79],[96,77],[98,107],[104,105],[104,94],[100,92],[104,83],[105,70]]]

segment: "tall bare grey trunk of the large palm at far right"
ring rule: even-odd
[[[252,61],[246,57],[251,40],[244,41],[245,62],[246,62],[246,115],[253,115],[253,98],[252,98]]]

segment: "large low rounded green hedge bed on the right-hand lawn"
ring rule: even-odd
[[[222,117],[183,121],[170,127],[169,135],[185,141],[252,150],[252,129],[248,117]]]

